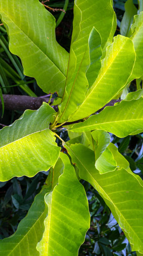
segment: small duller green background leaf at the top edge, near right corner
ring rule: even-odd
[[[123,36],[128,36],[131,25],[133,23],[133,16],[137,14],[137,8],[133,4],[133,0],[127,0],[125,3],[125,13],[121,21],[120,32]]]

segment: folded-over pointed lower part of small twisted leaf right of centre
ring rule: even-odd
[[[104,174],[106,172],[113,172],[117,168],[117,163],[108,147],[96,160],[95,167],[100,174]]]

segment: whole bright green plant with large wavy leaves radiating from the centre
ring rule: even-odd
[[[113,38],[112,4],[75,0],[68,54],[56,41],[54,17],[39,0],[0,1],[10,51],[44,92],[58,95],[57,113],[44,102],[0,130],[1,182],[49,170],[17,231],[0,241],[4,256],[78,254],[90,225],[80,179],[99,192],[132,250],[143,254],[143,181],[110,142],[110,133],[123,138],[143,132],[143,89],[118,100],[143,75],[143,12],[134,16],[129,37]],[[104,108],[114,99],[115,105]],[[68,131],[69,141],[61,131]]]

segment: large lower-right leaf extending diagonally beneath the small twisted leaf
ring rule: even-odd
[[[133,174],[124,157],[112,144],[110,150],[120,166],[114,172],[99,174],[94,165],[94,151],[81,144],[64,144],[79,168],[79,177],[90,182],[104,198],[123,229],[133,251],[143,252],[143,181]]]

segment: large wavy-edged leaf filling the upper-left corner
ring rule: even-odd
[[[62,96],[69,54],[57,43],[55,19],[39,0],[1,0],[0,14],[10,36],[10,51],[22,60],[24,73],[44,92]]]

